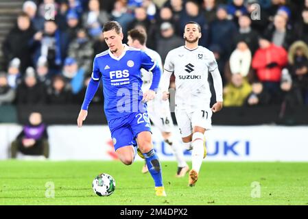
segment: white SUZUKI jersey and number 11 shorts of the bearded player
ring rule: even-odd
[[[165,71],[176,76],[176,120],[182,137],[189,136],[195,126],[211,129],[211,91],[207,79],[208,72],[215,70],[218,69],[213,53],[201,46],[178,47],[166,57]],[[222,101],[219,81],[213,79],[216,99]]]

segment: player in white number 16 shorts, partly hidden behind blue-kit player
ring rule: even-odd
[[[157,63],[157,65],[163,69],[161,56],[156,51],[148,49],[145,46],[146,39],[147,34],[144,29],[141,29],[141,27],[128,31],[128,45],[130,47],[141,49],[147,53],[147,55],[149,55]],[[144,92],[150,88],[153,75],[151,72],[148,72],[145,69],[141,69],[141,77],[143,80],[141,90]],[[185,174],[189,171],[189,166],[185,162],[182,147],[174,143],[174,140],[172,139],[174,123],[171,118],[169,101],[163,101],[161,96],[162,94],[156,94],[156,98],[147,102],[147,114],[149,115],[150,120],[152,120],[154,126],[156,126],[161,131],[165,143],[171,146],[171,149],[176,156],[176,160],[178,161],[178,171],[176,172],[176,177],[184,177]],[[143,166],[142,172],[147,172],[146,164]]]

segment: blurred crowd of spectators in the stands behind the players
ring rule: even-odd
[[[81,104],[111,20],[122,25],[123,42],[143,26],[163,61],[184,44],[185,23],[198,22],[200,45],[220,68],[225,107],[308,105],[308,0],[25,1],[3,42],[0,105]],[[99,89],[93,102],[101,104]]]

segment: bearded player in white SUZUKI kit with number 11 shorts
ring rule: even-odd
[[[222,110],[222,77],[213,52],[198,46],[201,28],[196,22],[185,25],[185,46],[169,51],[161,79],[163,99],[169,99],[169,83],[172,73],[176,77],[175,113],[182,142],[191,151],[192,168],[189,186],[194,186],[202,160],[206,156],[204,132],[211,129],[212,112]],[[210,108],[211,91],[208,75],[211,73],[216,103]]]

